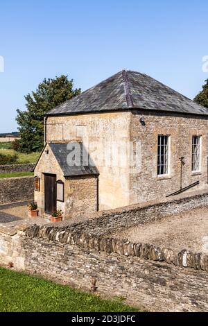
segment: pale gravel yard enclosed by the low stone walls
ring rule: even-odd
[[[135,243],[150,243],[180,251],[208,254],[208,209],[193,209],[160,221],[139,225],[114,234],[119,239]]]

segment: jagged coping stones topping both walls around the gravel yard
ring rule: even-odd
[[[171,200],[167,203],[157,203],[156,205],[146,207],[137,206],[136,208],[134,205],[133,210],[150,214],[147,209],[152,209],[153,212],[157,212],[157,207],[162,205],[166,207],[171,204],[177,205],[179,203],[187,203],[193,199],[204,200],[207,199],[207,197],[208,194],[206,193],[189,198],[182,198],[180,200]],[[115,210],[113,209],[110,212],[115,212]],[[116,212],[118,211],[116,210]],[[132,206],[121,209],[121,212],[122,214],[124,213],[124,218],[129,218],[129,221],[131,221],[130,214],[132,212]],[[125,216],[125,213],[128,213],[128,215]],[[167,264],[174,264],[179,267],[208,271],[208,255],[202,254],[202,252],[192,252],[187,249],[175,252],[171,248],[160,248],[152,243],[132,243],[126,239],[120,240],[107,236],[105,230],[103,230],[103,225],[105,226],[106,223],[109,223],[110,216],[112,217],[111,222],[114,223],[114,218],[116,218],[117,215],[114,216],[114,213],[110,214],[103,212],[102,216],[99,218],[91,218],[87,221],[75,224],[67,224],[66,222],[64,222],[64,224],[56,223],[56,225],[47,224],[42,226],[35,224],[26,228],[26,237],[37,237],[42,238],[45,241],[91,248],[98,252],[107,252],[108,254],[114,253],[126,257],[134,256],[141,259],[150,259],[153,261],[165,262]],[[126,223],[128,223],[127,220]],[[137,223],[139,223],[138,219]],[[146,223],[146,221],[142,223]],[[98,227],[98,230],[96,230],[96,227]],[[107,230],[107,232],[109,234],[110,230]]]

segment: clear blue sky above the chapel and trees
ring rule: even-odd
[[[208,73],[206,0],[8,0],[0,6],[0,132],[44,77],[69,74],[83,90],[134,69],[193,98]]]

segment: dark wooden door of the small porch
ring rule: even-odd
[[[45,212],[51,214],[56,210],[56,175],[44,175]]]

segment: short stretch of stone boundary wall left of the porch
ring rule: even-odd
[[[0,205],[30,200],[33,194],[33,177],[0,179]]]

